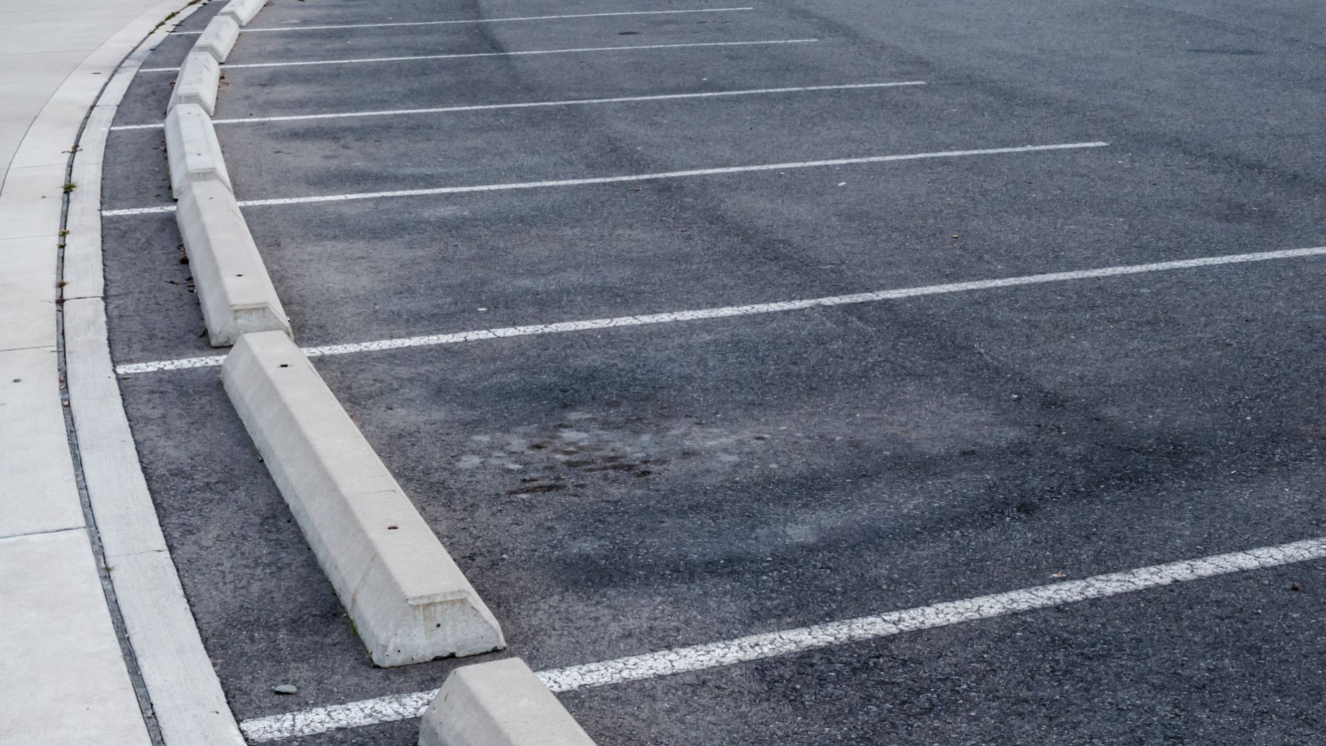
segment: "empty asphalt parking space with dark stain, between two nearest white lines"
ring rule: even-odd
[[[320,368],[521,654],[558,666],[1319,532],[1319,386],[1277,361],[1307,323],[1261,308],[1268,285],[1199,317],[1175,305],[1192,281]],[[1109,311],[1120,295],[1146,300]],[[1099,315],[1065,324],[1083,301]],[[1179,342],[1136,338],[1170,317]],[[186,583],[241,715],[278,708],[281,676],[313,704],[434,685],[349,665],[358,642],[213,377],[125,389],[162,443],[145,458],[180,561],[228,547]]]

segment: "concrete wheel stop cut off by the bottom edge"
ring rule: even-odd
[[[461,666],[423,713],[419,746],[594,746],[520,658]]]

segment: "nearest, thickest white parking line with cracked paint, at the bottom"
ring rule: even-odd
[[[1322,558],[1326,558],[1326,539],[1307,539],[1290,544],[1097,575],[1082,580],[1065,580],[1050,585],[1037,585],[1020,591],[963,599],[960,601],[944,601],[928,607],[815,624],[797,629],[751,634],[735,640],[542,670],[538,672],[538,677],[553,692],[572,692],[590,686],[606,686],[610,684],[729,666],[850,642],[878,640],[920,629],[996,619],[1123,593],[1136,593],[1175,583],[1188,583],[1235,572],[1268,569],[1299,561],[1319,560]],[[251,743],[259,743],[293,738],[296,735],[326,733],[329,730],[416,718],[423,714],[424,708],[436,692],[436,689],[412,692],[410,694],[378,697],[375,700],[361,700],[345,705],[330,705],[280,715],[252,718],[241,722],[240,729]]]

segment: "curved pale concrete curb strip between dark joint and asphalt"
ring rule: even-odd
[[[130,81],[170,31],[156,21],[171,11],[183,20],[196,9],[182,4],[155,5],[107,41],[134,46],[95,98],[73,157],[73,174],[82,186],[70,192],[65,214],[62,348],[88,502],[151,708],[145,715],[155,719],[168,746],[243,746],[156,520],[105,327],[99,210],[106,138]]]

